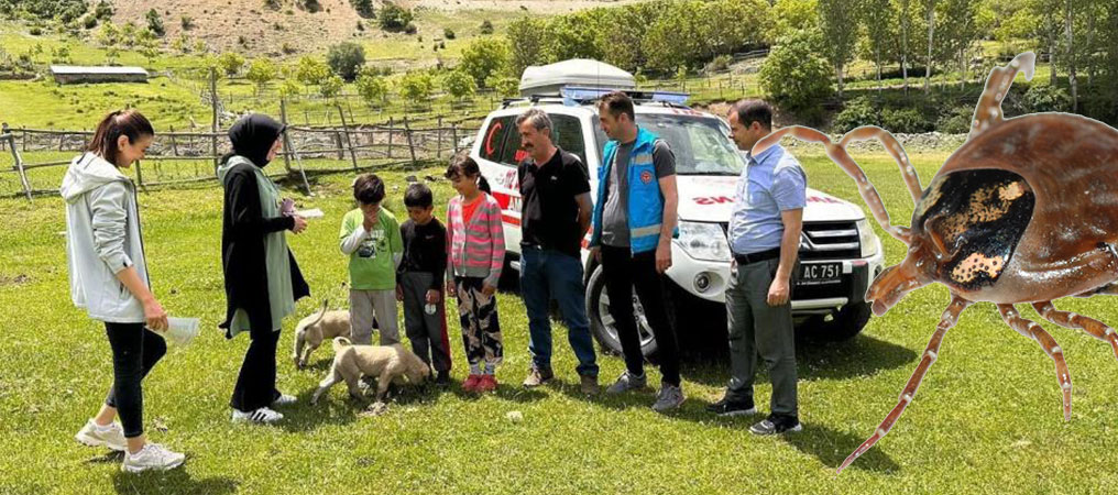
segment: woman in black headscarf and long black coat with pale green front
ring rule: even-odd
[[[276,390],[276,342],[281,321],[295,301],[310,295],[285,230],[300,234],[306,220],[281,206],[280,189],[262,170],[282,146],[284,126],[266,115],[249,115],[229,128],[233,153],[218,166],[225,187],[221,221],[221,269],[228,301],[221,327],[226,336],[247,331],[252,337],[233,390],[234,421],[272,423],[283,415],[272,409],[295,402]]]

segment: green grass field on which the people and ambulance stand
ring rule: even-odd
[[[856,200],[853,182],[818,154],[803,152],[809,183]],[[863,156],[855,156],[863,159]],[[912,156],[923,183],[946,154]],[[883,154],[862,160],[898,223],[912,211],[896,165]],[[386,170],[398,209],[408,173]],[[306,234],[288,237],[314,296],[305,315],[330,298],[342,305],[345,260],[338,253],[341,215],[351,208],[351,177],[320,178],[321,208]],[[435,185],[439,215],[451,193]],[[247,340],[226,341],[214,327],[224,314],[219,261],[221,192],[214,185],[142,193],[144,234],[157,295],[172,315],[198,316],[202,334],[173,349],[145,382],[145,426],[155,441],[184,450],[186,467],[126,476],[119,459],[77,445],[73,434],[98,407],[111,380],[100,323],[68,296],[64,207],[58,198],[0,199],[0,493],[1107,493],[1118,431],[1118,363],[1108,346],[1082,332],[1050,329],[1068,356],[1074,408],[1064,422],[1051,360],[1010,330],[989,304],[967,310],[948,332],[939,361],[892,432],[841,477],[835,467],[897,401],[947,304],[941,286],[910,294],[864,333],[839,344],[800,344],[799,403],[805,430],[756,438],[749,418],[718,419],[702,408],[718,399],[728,363],[719,356],[683,367],[689,400],[678,412],[648,409],[652,392],[582,399],[574,359],[557,325],[561,384],[523,391],[529,363],[527,318],[514,293],[502,293],[505,363],[499,393],[480,399],[455,389],[408,392],[380,417],[359,416],[337,388],[324,403],[300,403],[278,427],[229,422],[228,394]],[[881,231],[879,230],[879,235]],[[884,239],[884,237],[883,237]],[[903,246],[885,239],[897,263]],[[1114,299],[1068,299],[1061,308],[1118,322]],[[1025,316],[1036,317],[1031,310]],[[306,399],[331,351],[295,371],[288,353],[297,318],[284,322],[281,389]],[[457,324],[451,325],[452,336]],[[724,332],[684,321],[681,332]],[[456,380],[464,375],[452,339]],[[623,369],[601,356],[606,382]],[[652,372],[653,378],[659,375]],[[767,410],[770,387],[757,397]],[[512,423],[509,411],[524,420]],[[161,427],[161,428],[157,428]],[[165,431],[161,430],[165,429]]]

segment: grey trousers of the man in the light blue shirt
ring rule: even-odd
[[[757,358],[773,379],[771,415],[797,419],[796,339],[792,326],[792,303],[768,305],[779,258],[737,265],[726,288],[727,324],[730,337],[730,385],[727,397],[754,401]],[[793,274],[799,266],[793,266]],[[795,284],[796,276],[789,284]]]

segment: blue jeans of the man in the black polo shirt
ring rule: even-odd
[[[586,286],[582,263],[553,250],[524,247],[520,256],[520,293],[528,308],[528,351],[540,370],[551,369],[550,303],[559,303],[567,340],[578,358],[578,374],[597,377],[598,363],[586,317]]]

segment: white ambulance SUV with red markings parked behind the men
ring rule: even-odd
[[[547,112],[555,126],[552,140],[582,159],[588,168],[591,194],[597,192],[597,169],[608,140],[594,104],[601,91],[586,92],[584,88],[584,94],[594,97],[582,99],[579,91],[565,88],[562,95],[505,101],[500,110],[486,116],[474,140],[471,156],[481,165],[482,174],[503,209],[506,269],[519,270],[520,267],[521,201],[517,164],[527,152],[520,147],[518,115],[532,106]],[[672,242],[672,267],[666,275],[672,282],[679,334],[685,340],[694,332],[714,332],[724,340],[723,292],[732,259],[726,232],[735,185],[746,165],[745,156],[730,141],[727,123],[686,107],[683,104],[686,95],[628,93],[634,97],[637,125],[666,141],[675,155],[680,236]],[[807,189],[803,230],[799,280],[792,294],[797,332],[828,340],[852,337],[870,316],[864,296],[869,283],[883,269],[881,241],[861,208],[814,189]],[[598,342],[607,351],[619,353],[620,342],[608,312],[609,305],[617,302],[609,301],[601,269],[585,247],[584,240],[587,316]],[[510,275],[515,273],[510,272]],[[639,302],[634,297],[622,304],[635,305],[635,314],[641,320],[642,350],[645,355],[652,355],[656,343]]]

